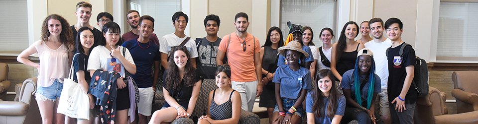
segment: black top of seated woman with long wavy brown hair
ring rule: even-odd
[[[197,75],[200,74],[200,72],[197,69],[195,71],[196,71]],[[181,89],[176,90],[176,89],[173,89],[173,88],[166,88],[167,83],[169,83],[169,81],[166,78],[167,75],[168,75],[168,70],[164,71],[164,74],[163,74],[164,89],[167,90],[169,95],[171,97],[173,97],[176,100],[176,102],[178,102],[179,105],[181,105],[183,107],[187,107],[188,104],[189,104],[189,99],[191,99],[191,96],[192,96],[192,93],[193,93],[194,85],[193,86],[185,86],[184,85],[184,80],[181,80],[181,84],[180,84]],[[195,83],[198,82],[199,80],[201,80],[201,78],[199,76],[196,76],[196,78],[194,78]]]

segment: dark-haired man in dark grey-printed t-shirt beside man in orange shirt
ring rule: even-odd
[[[203,78],[214,79],[216,77],[214,74],[218,68],[216,57],[219,44],[221,43],[221,38],[218,37],[220,24],[221,20],[217,15],[210,14],[204,18],[204,27],[208,36],[201,39],[201,44],[198,48],[199,57],[196,62],[198,69],[203,72]]]

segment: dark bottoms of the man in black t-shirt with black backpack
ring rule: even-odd
[[[392,117],[392,124],[413,124],[413,112],[415,112],[415,103],[405,104],[407,110],[398,112],[395,110],[397,103],[390,104],[390,116]]]

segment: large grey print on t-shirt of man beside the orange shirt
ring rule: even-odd
[[[212,48],[212,49],[211,49]],[[203,66],[215,66],[219,46],[199,46],[199,57]],[[211,65],[212,64],[212,65]]]

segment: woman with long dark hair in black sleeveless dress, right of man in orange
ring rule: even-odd
[[[262,59],[262,93],[260,94],[259,107],[267,108],[267,114],[272,117],[272,112],[276,104],[275,101],[275,84],[272,83],[275,70],[277,69],[277,59],[279,58],[279,52],[277,49],[284,46],[284,40],[282,38],[282,31],[279,27],[271,27],[267,32],[267,38],[264,46],[260,48],[260,58]],[[272,124],[272,119],[269,123]]]

